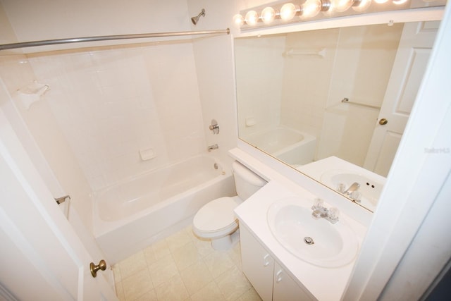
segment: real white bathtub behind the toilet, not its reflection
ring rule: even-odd
[[[94,236],[115,264],[192,223],[212,199],[233,195],[230,171],[212,156],[194,156],[96,192]]]

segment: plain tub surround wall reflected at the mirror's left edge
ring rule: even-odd
[[[280,125],[285,36],[235,42],[240,137]]]

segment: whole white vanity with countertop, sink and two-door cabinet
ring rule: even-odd
[[[366,226],[348,216],[344,212],[346,210],[342,211],[340,204],[329,204],[326,199],[324,207],[338,207],[340,210],[339,221],[333,224],[326,219],[314,219],[311,207],[318,199],[317,195],[261,164],[261,161],[247,156],[240,149],[233,149],[230,154],[268,180],[268,184],[235,209],[240,221],[242,271],[262,300],[340,300],[366,233]],[[344,200],[343,204],[346,202]],[[284,233],[290,232],[287,227],[296,227],[297,221],[292,221],[293,217],[288,214],[298,207],[307,210],[307,215],[299,219],[304,219],[314,227],[318,223],[318,231],[325,232],[323,237],[311,235],[313,246],[320,246],[314,252],[304,252],[304,247],[296,245],[297,242],[290,245],[292,237],[282,237]],[[354,207],[362,210],[362,215],[366,214],[367,210],[362,207],[355,204]],[[282,216],[278,217],[278,214]],[[283,221],[287,223],[282,225]],[[328,229],[343,225],[350,231],[346,233],[350,236],[341,237],[343,241],[334,237],[336,233],[328,235]],[[309,225],[305,226],[309,228]],[[299,242],[309,247],[303,239],[304,235],[300,234]],[[326,244],[322,250],[321,244]]]

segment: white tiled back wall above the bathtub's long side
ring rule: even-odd
[[[190,42],[29,57],[92,190],[204,151]]]

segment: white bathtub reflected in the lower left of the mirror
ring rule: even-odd
[[[314,160],[316,137],[285,126],[248,135],[245,141],[293,166]]]

